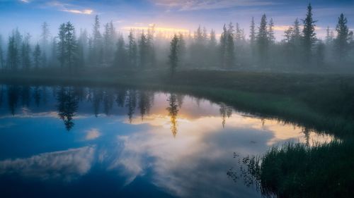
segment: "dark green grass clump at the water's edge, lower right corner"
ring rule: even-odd
[[[287,143],[270,149],[249,173],[267,195],[354,197],[353,149],[353,141],[316,147]]]

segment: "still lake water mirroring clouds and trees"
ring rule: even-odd
[[[173,92],[0,85],[0,197],[261,197],[239,157],[331,138]]]

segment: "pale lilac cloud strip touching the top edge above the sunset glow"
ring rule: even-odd
[[[169,9],[176,8],[178,11],[212,10],[237,6],[269,6],[275,4],[271,1],[260,0],[157,0],[154,3],[157,6],[165,6]]]

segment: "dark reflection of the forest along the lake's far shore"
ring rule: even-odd
[[[79,109],[80,102],[89,102],[92,106],[93,115],[111,115],[113,107],[124,108],[127,118],[132,123],[136,114],[142,120],[149,115],[154,104],[154,92],[145,90],[128,89],[126,87],[101,88],[101,87],[30,87],[28,85],[1,85],[0,105],[4,105],[7,94],[8,109],[12,115],[19,108],[28,108],[32,104],[41,108],[54,98],[59,118],[64,121],[65,128],[71,130],[74,127],[73,117]],[[52,95],[52,98],[50,98]],[[183,94],[169,94],[168,115],[171,122],[171,132],[175,137],[178,132],[178,111],[183,106]],[[198,103],[198,99],[196,100]],[[232,107],[219,104],[219,113],[222,117],[222,126],[225,127],[227,118],[232,116]]]

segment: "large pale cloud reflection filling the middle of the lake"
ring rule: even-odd
[[[110,168],[124,168],[128,182],[152,168],[154,184],[181,197],[260,197],[227,178],[227,170],[234,166],[232,154],[263,154],[272,144],[304,142],[302,128],[240,114],[227,118],[224,130],[220,117],[185,119],[176,138],[166,130],[168,123],[168,116],[158,115],[137,120],[135,124],[152,128],[118,137],[122,150]],[[312,135],[314,140],[319,137]]]

